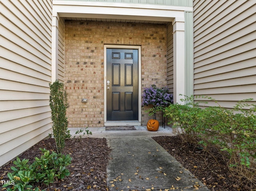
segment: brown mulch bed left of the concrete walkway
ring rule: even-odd
[[[26,158],[32,162],[35,157],[40,158],[42,155],[39,148],[56,152],[55,140],[53,138],[42,140],[24,152],[19,158]],[[47,191],[108,190],[106,166],[110,149],[105,138],[66,140],[62,154],[70,154],[72,158],[71,164],[67,167],[71,174],[65,177],[63,181],[50,184],[50,187],[40,185],[40,189],[46,189]],[[8,180],[6,171],[10,171],[11,165],[12,163],[9,163],[0,169],[0,179]]]

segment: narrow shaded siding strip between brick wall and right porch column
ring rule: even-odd
[[[167,25],[167,87],[173,93],[173,26]]]

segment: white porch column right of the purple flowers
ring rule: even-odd
[[[175,18],[173,25],[173,96],[174,103],[182,103],[185,95],[185,21],[184,18]]]

